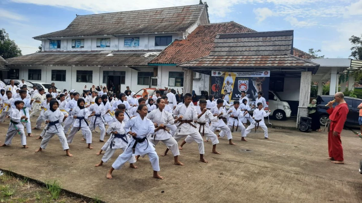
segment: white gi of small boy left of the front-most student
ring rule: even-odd
[[[107,133],[110,134],[111,131],[117,131],[118,134],[120,135],[124,135],[126,134],[125,132],[125,122],[122,121],[119,122],[118,120],[113,122],[109,128],[107,129]],[[112,136],[108,139],[108,141],[104,144],[104,146],[102,147],[102,150],[106,151],[102,157],[102,161],[103,163],[107,163],[107,161],[109,161],[109,159],[114,155],[114,152],[117,149],[122,149],[123,152],[126,151],[127,148],[127,144],[128,142],[130,142],[130,138],[126,135],[125,137],[122,138],[115,138],[114,134],[112,134]],[[104,149],[104,147],[106,147]],[[128,162],[130,164],[136,163],[136,158],[135,156],[132,156]]]

